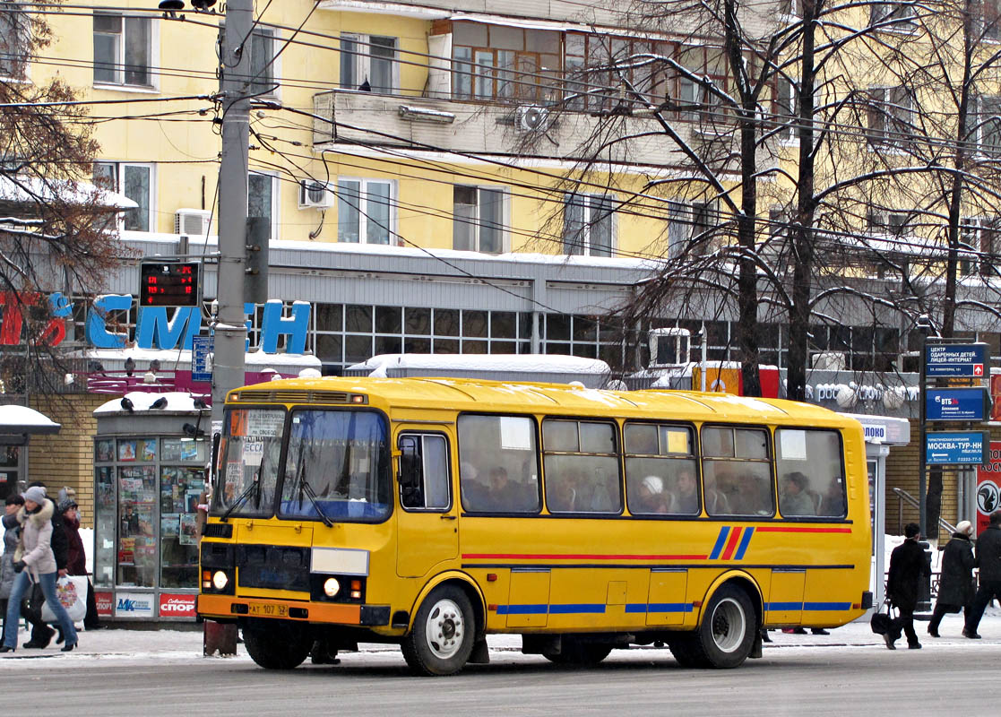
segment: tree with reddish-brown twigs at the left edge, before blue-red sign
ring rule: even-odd
[[[51,294],[96,290],[123,253],[118,209],[87,181],[98,145],[84,104],[58,76],[36,82],[25,72],[51,41],[44,12],[57,8],[0,5],[0,354],[14,391],[29,374],[57,390],[54,344],[69,305]]]

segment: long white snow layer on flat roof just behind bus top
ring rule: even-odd
[[[387,369],[440,369],[477,373],[505,371],[525,374],[612,373],[609,365],[598,358],[551,353],[380,353],[362,364],[348,367],[348,371],[368,370],[371,372],[370,376],[383,377]]]

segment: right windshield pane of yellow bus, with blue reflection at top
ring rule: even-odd
[[[368,411],[295,411],[282,518],[378,522],[389,515],[385,420]]]

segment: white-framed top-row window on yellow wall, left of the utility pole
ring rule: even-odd
[[[94,13],[94,82],[152,85],[148,18]]]

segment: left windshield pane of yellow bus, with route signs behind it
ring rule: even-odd
[[[281,409],[226,412],[212,515],[273,515],[284,425]]]

